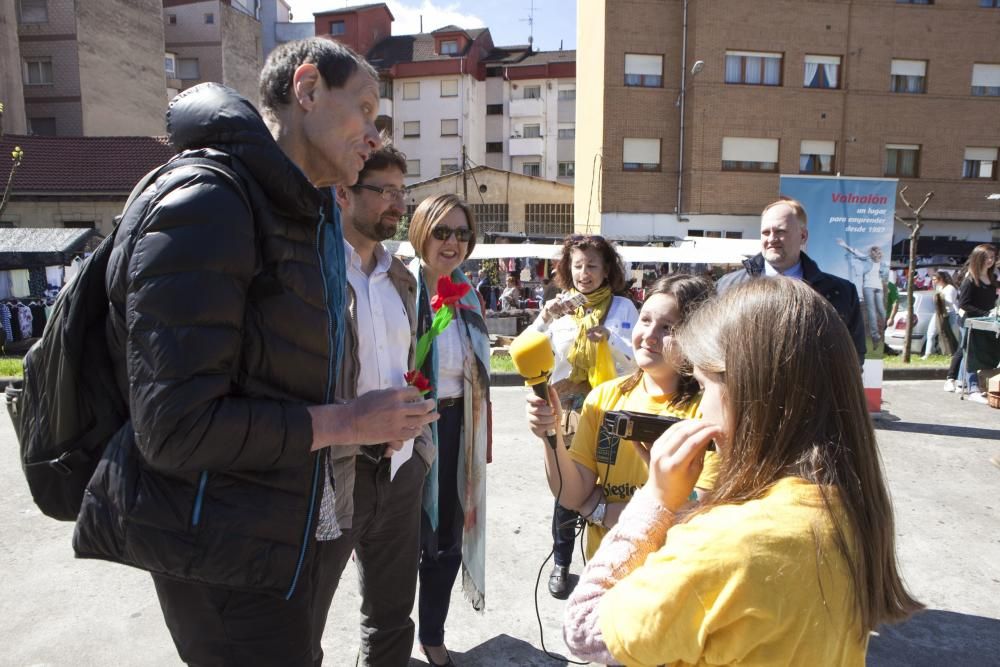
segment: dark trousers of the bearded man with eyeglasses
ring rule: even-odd
[[[420,553],[420,497],[427,465],[414,452],[396,479],[389,459],[355,459],[352,527],[330,543],[324,563],[340,575],[356,553],[361,593],[361,655],[358,664],[406,665],[413,650],[413,599]],[[329,592],[330,600],[336,584]],[[329,607],[329,603],[327,605]]]

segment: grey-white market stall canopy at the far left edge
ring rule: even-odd
[[[0,271],[65,266],[99,240],[100,234],[89,228],[0,229]]]

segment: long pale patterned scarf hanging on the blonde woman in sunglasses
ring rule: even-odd
[[[433,313],[430,309],[430,293],[424,282],[424,272],[420,261],[410,264],[410,271],[417,278],[417,337],[430,327]],[[455,269],[451,279],[456,284],[469,282],[461,270]],[[465,354],[462,415],[462,440],[458,454],[458,498],[462,505],[462,592],[472,603],[473,609],[483,611],[486,607],[486,447],[489,438],[488,418],[490,400],[490,339],[486,322],[480,314],[479,297],[471,289],[461,303],[470,306],[460,309],[460,318],[455,321],[462,334],[462,341],[471,348],[472,354]],[[431,343],[431,352],[424,362],[424,375],[431,381],[430,397],[437,398],[437,353],[438,341]],[[431,425],[434,445],[438,446],[437,424]],[[424,548],[437,551],[438,517],[438,459],[435,457],[427,479],[424,481],[423,507],[425,525],[429,524],[432,534],[421,535]]]

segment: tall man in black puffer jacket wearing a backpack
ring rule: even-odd
[[[261,99],[264,117],[209,83],[170,104],[172,144],[218,168],[165,170],[117,231],[106,329],[131,418],[73,541],[149,570],[180,657],[200,665],[322,662],[314,598],[336,583],[323,554],[338,535],[325,448],[436,418],[412,387],[332,405],[346,280],[317,188],[353,184],[380,144],[374,70],[336,42],[285,44]]]

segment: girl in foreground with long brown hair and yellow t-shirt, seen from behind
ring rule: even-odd
[[[702,419],[653,443],[566,607],[567,646],[625,665],[863,666],[869,631],[921,605],[899,578],[847,328],[808,284],[768,278],[677,340]],[[717,483],[690,505],[713,440]]]

